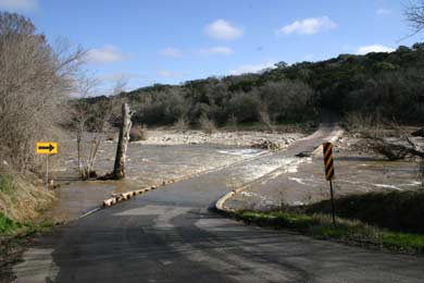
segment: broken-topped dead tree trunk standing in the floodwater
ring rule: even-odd
[[[128,147],[129,131],[132,127],[132,112],[127,103],[122,104],[122,125],[117,140],[115,165],[113,168],[113,177],[116,180],[125,177],[125,157]]]

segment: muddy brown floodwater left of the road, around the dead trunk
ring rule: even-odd
[[[164,181],[188,177],[267,152],[221,145],[129,144],[125,180],[82,182],[76,174],[77,159],[73,145],[72,142],[63,145],[61,156],[53,157],[57,159],[53,176],[61,184],[57,188],[58,201],[52,210],[55,221],[76,219],[99,207],[103,199],[115,193],[160,185]],[[116,143],[102,144],[96,160],[97,174],[112,171]]]

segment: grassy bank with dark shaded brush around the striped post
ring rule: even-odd
[[[295,230],[317,238],[424,255],[424,234],[420,233],[422,226],[417,225],[420,214],[424,216],[423,195],[420,190],[344,197],[336,201],[338,211],[341,211],[336,225],[332,223],[328,201],[269,212],[238,211],[233,216],[247,223]],[[384,218],[385,213],[388,218]],[[396,213],[398,216],[392,218],[391,223],[389,217]]]

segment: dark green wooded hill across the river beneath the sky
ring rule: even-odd
[[[219,125],[305,122],[323,111],[340,119],[419,124],[424,120],[424,44],[400,46],[390,53],[279,62],[260,74],[157,84],[120,97],[135,109],[134,122],[148,125],[196,125],[205,119]]]

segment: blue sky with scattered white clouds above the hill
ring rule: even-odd
[[[103,86],[255,72],[278,61],[389,51],[407,38],[408,1],[396,0],[0,0],[50,41],[82,45]]]

